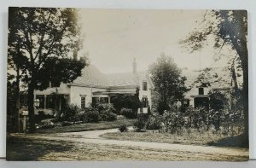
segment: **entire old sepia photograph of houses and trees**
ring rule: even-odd
[[[247,161],[246,10],[9,7],[7,160]]]

